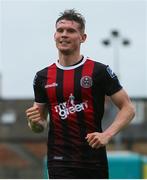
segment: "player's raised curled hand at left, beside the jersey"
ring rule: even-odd
[[[26,110],[26,116],[29,121],[32,123],[37,123],[42,120],[41,113],[39,111],[39,107],[33,106]]]

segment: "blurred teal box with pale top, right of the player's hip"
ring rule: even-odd
[[[109,152],[110,179],[142,178],[142,157],[132,152]]]

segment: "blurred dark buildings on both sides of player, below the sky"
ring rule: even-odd
[[[119,137],[119,148],[147,155],[147,99],[132,98],[136,117]],[[46,154],[47,130],[33,133],[27,126],[25,110],[32,99],[0,101],[0,178],[43,178],[43,158]],[[113,121],[117,112],[106,98],[103,129]],[[116,150],[115,138],[107,149]]]

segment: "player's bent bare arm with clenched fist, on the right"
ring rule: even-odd
[[[119,108],[119,111],[113,123],[103,133],[90,133],[86,139],[90,146],[99,148],[108,144],[110,139],[123,129],[134,117],[135,109],[124,90],[120,90],[111,96],[113,103]]]

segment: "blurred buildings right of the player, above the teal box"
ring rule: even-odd
[[[131,123],[116,135],[108,145],[108,150],[130,150],[147,155],[147,99],[131,98],[136,115]],[[105,101],[105,114],[103,129],[107,128],[114,120],[117,108],[109,97]]]

